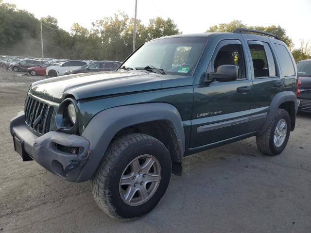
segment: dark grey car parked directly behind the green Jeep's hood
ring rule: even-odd
[[[88,66],[83,66],[77,69],[71,69],[69,71],[69,74],[116,70],[121,64],[122,62],[117,61],[96,61],[93,62],[92,64],[89,64]]]

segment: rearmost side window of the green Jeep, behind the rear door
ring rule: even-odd
[[[280,67],[284,76],[295,75],[294,64],[292,58],[284,45],[274,44],[276,48],[276,56],[280,62]]]

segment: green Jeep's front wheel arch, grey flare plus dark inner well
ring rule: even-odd
[[[91,119],[82,133],[90,142],[91,154],[76,182],[91,179],[109,144],[118,135],[133,132],[146,133],[161,141],[170,152],[173,173],[181,175],[185,134],[178,110],[168,103],[144,103],[106,109]]]

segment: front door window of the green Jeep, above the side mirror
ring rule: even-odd
[[[245,60],[241,44],[229,44],[223,46],[214,60],[214,72],[222,65],[234,65],[238,67],[238,79],[245,79]]]

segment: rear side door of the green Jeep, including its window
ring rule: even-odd
[[[269,113],[274,96],[281,91],[283,79],[274,48],[268,37],[242,34],[247,44],[253,79],[253,95],[250,108],[250,123],[246,132],[261,129]]]

